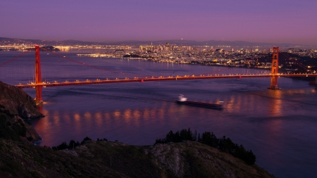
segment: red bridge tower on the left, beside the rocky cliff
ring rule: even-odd
[[[35,46],[35,84],[42,84],[42,73],[41,73],[41,60],[39,58],[39,46]],[[35,87],[37,91],[37,97],[35,101],[37,103],[43,103],[42,98],[42,86]]]

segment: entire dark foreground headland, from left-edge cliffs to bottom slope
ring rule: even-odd
[[[22,90],[1,87],[6,93],[0,93],[0,177],[274,177],[256,164],[189,139],[132,146],[86,137],[54,148],[35,146],[37,132],[21,119],[19,108],[6,102],[25,106],[27,117],[42,114],[27,108],[35,106]]]

